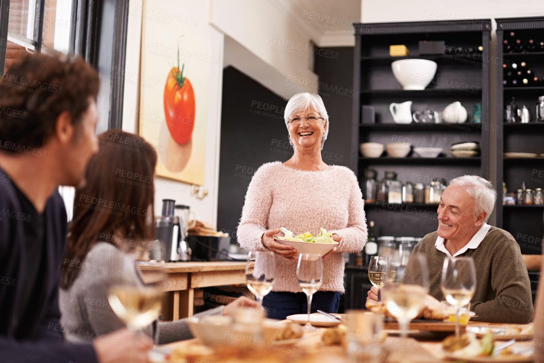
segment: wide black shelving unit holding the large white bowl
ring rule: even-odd
[[[354,24],[354,84],[360,90],[353,99],[353,136],[351,168],[362,179],[362,169],[372,168],[378,179],[386,170],[395,171],[398,179],[429,184],[432,177],[451,180],[464,174],[488,177],[489,161],[489,59],[490,20],[422,21],[403,23]],[[418,41],[443,40],[453,47],[483,46],[481,58],[455,54],[422,55]],[[391,57],[389,46],[404,44],[407,57]],[[434,79],[424,90],[403,90],[391,70],[391,63],[400,59],[429,59],[437,63]],[[474,61],[476,60],[476,61]],[[467,87],[467,85],[469,87]],[[412,101],[412,112],[430,108],[441,112],[454,101],[467,109],[466,124],[395,124],[389,110],[392,102]],[[482,103],[481,124],[474,124],[472,106]],[[363,105],[375,107],[376,123],[362,124]],[[438,146],[448,153],[452,144],[466,141],[480,143],[481,155],[454,158],[449,155],[421,158],[413,151],[406,158],[363,157],[359,144],[373,141],[382,144],[411,142],[413,147]],[[384,153],[384,155],[387,155]],[[410,206],[410,208],[406,208]],[[400,208],[403,207],[403,208]],[[437,205],[366,204],[367,220],[374,220],[376,236],[421,237],[436,231]],[[401,210],[401,211],[400,211]]]

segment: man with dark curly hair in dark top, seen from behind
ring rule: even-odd
[[[126,329],[69,344],[59,323],[67,218],[57,188],[84,183],[98,150],[98,86],[81,58],[43,54],[24,56],[0,77],[2,361],[147,361],[149,340]]]

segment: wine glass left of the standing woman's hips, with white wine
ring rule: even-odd
[[[276,260],[272,251],[252,251],[245,265],[245,276],[249,290],[255,294],[259,304],[272,291],[276,279]]]

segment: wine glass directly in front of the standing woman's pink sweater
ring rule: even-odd
[[[299,254],[299,262],[296,264],[296,278],[299,286],[306,294],[308,301],[308,322],[302,329],[317,330],[310,324],[312,311],[312,296],[319,290],[323,280],[323,260],[319,254]]]

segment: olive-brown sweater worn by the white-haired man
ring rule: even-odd
[[[429,268],[429,294],[442,301],[440,287],[442,266],[447,256],[435,247],[437,232],[426,235],[413,253],[425,256]],[[533,300],[527,267],[520,246],[510,233],[491,227],[476,249],[468,249],[460,256],[474,259],[476,291],[471,310],[477,317],[471,321],[525,324],[533,317]]]

